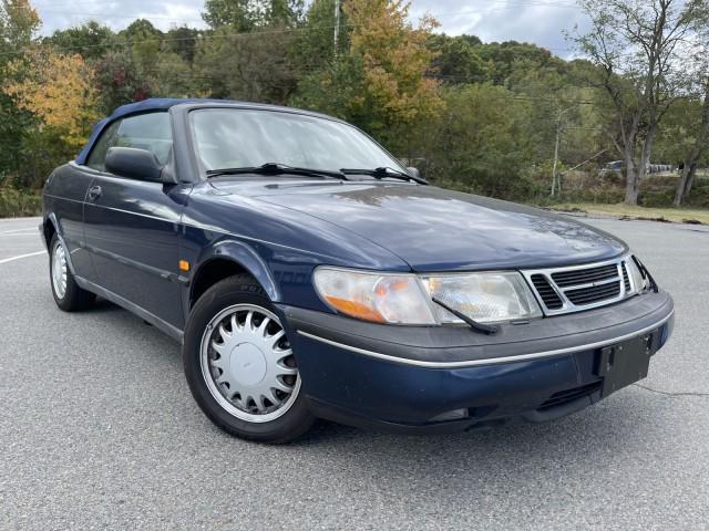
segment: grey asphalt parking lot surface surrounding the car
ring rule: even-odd
[[[675,296],[640,385],[547,425],[270,447],[213,427],[155,329],[59,311],[39,220],[0,220],[0,529],[708,529],[709,228],[589,222]]]

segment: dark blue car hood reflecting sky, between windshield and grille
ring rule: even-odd
[[[627,250],[623,241],[567,217],[433,186],[214,185],[345,228],[420,272],[569,266]]]

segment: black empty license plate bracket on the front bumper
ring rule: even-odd
[[[657,333],[634,337],[608,345],[596,355],[595,373],[603,377],[600,396],[634,384],[647,376],[650,356],[655,354]]]

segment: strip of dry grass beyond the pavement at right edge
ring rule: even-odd
[[[620,219],[645,219],[674,223],[709,225],[709,210],[696,208],[647,208],[617,205],[595,205],[593,202],[565,202],[549,207],[564,212],[587,212],[615,216]]]

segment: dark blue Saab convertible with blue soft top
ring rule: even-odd
[[[204,413],[282,442],[544,421],[647,375],[672,300],[610,235],[429,186],[366,134],[148,100],[44,188],[59,308],[107,299],[183,344]],[[135,353],[140,355],[140,353]]]

